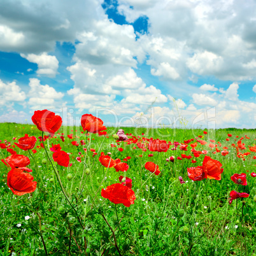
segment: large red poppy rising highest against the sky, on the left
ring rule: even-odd
[[[62,118],[49,110],[34,111],[31,119],[39,131],[50,132],[52,136],[60,129],[62,124]]]

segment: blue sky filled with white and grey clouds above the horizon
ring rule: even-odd
[[[0,122],[48,109],[65,124],[92,113],[106,125],[208,127],[211,113],[217,128],[255,128],[255,10],[253,0],[2,0]]]

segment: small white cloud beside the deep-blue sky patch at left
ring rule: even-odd
[[[57,70],[59,68],[59,61],[55,56],[48,55],[47,53],[36,54],[20,54],[22,58],[29,60],[38,64],[38,70],[36,73],[42,76],[48,76],[54,78],[57,75]],[[32,69],[31,69],[32,70]]]

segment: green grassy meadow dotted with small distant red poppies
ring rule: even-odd
[[[13,194],[6,184],[10,167],[0,162],[1,255],[255,255],[256,177],[251,173],[256,173],[256,152],[250,148],[255,130],[122,129],[128,141],[116,141],[114,127],[108,127],[108,136],[60,127],[43,148],[36,125],[0,124],[0,143],[6,145],[1,159],[11,155],[10,148],[27,156],[37,181],[34,192]],[[36,152],[14,145],[25,134],[37,138]],[[165,140],[167,152],[150,151],[150,138]],[[53,161],[50,148],[57,144],[70,153],[72,166]],[[129,169],[104,167],[101,152]],[[174,162],[166,160],[171,156]],[[222,164],[221,179],[190,180],[187,168],[202,166],[206,156]],[[160,174],[146,170],[146,162],[157,164]],[[235,173],[245,173],[248,184],[234,183]],[[136,199],[130,207],[101,196],[102,188],[120,183],[119,176],[132,180]],[[250,196],[229,204],[232,190]]]

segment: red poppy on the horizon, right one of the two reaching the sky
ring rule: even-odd
[[[82,115],[81,125],[83,131],[87,132],[97,133],[106,130],[106,127],[103,125],[103,120],[91,114]]]

